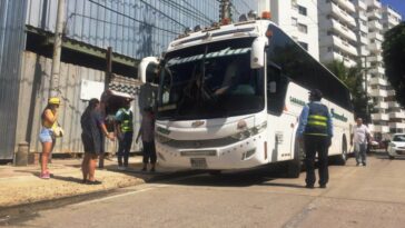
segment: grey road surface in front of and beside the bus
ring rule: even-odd
[[[10,227],[405,227],[405,160],[330,166],[327,189],[268,170],[145,184],[38,210]]]

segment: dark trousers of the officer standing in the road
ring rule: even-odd
[[[328,151],[328,137],[325,136],[304,136],[305,147],[305,168],[307,177],[305,179],[308,186],[315,184],[315,155],[318,152],[319,162],[319,185],[326,185],[329,180],[328,165],[327,165],[327,151]]]

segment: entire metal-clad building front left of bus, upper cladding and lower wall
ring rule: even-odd
[[[257,9],[258,0],[235,0],[234,18]],[[40,112],[47,103],[57,0],[0,1],[0,159],[12,159],[20,141],[38,152]],[[219,21],[219,1],[67,0],[60,91],[65,137],[56,152],[79,152],[80,113],[87,101],[80,81],[105,81],[107,48],[112,72],[137,78],[137,65],[160,56],[186,28]]]

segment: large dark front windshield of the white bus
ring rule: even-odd
[[[220,118],[264,109],[263,69],[250,69],[253,39],[196,46],[165,58],[158,119]]]

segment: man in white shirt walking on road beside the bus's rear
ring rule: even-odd
[[[357,118],[356,123],[357,125],[353,127],[350,145],[354,145],[357,166],[366,166],[367,139],[371,138],[371,133],[367,126],[363,125],[362,118]]]

